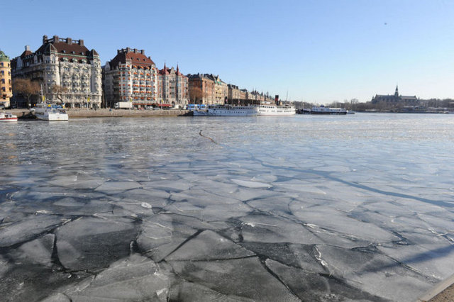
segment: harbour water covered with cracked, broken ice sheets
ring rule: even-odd
[[[2,301],[415,301],[454,273],[453,115],[0,130]]]

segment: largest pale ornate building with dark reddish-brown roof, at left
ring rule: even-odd
[[[48,103],[63,103],[67,108],[101,106],[101,61],[84,40],[43,36],[35,52],[30,47],[11,61],[13,78],[38,81]]]

